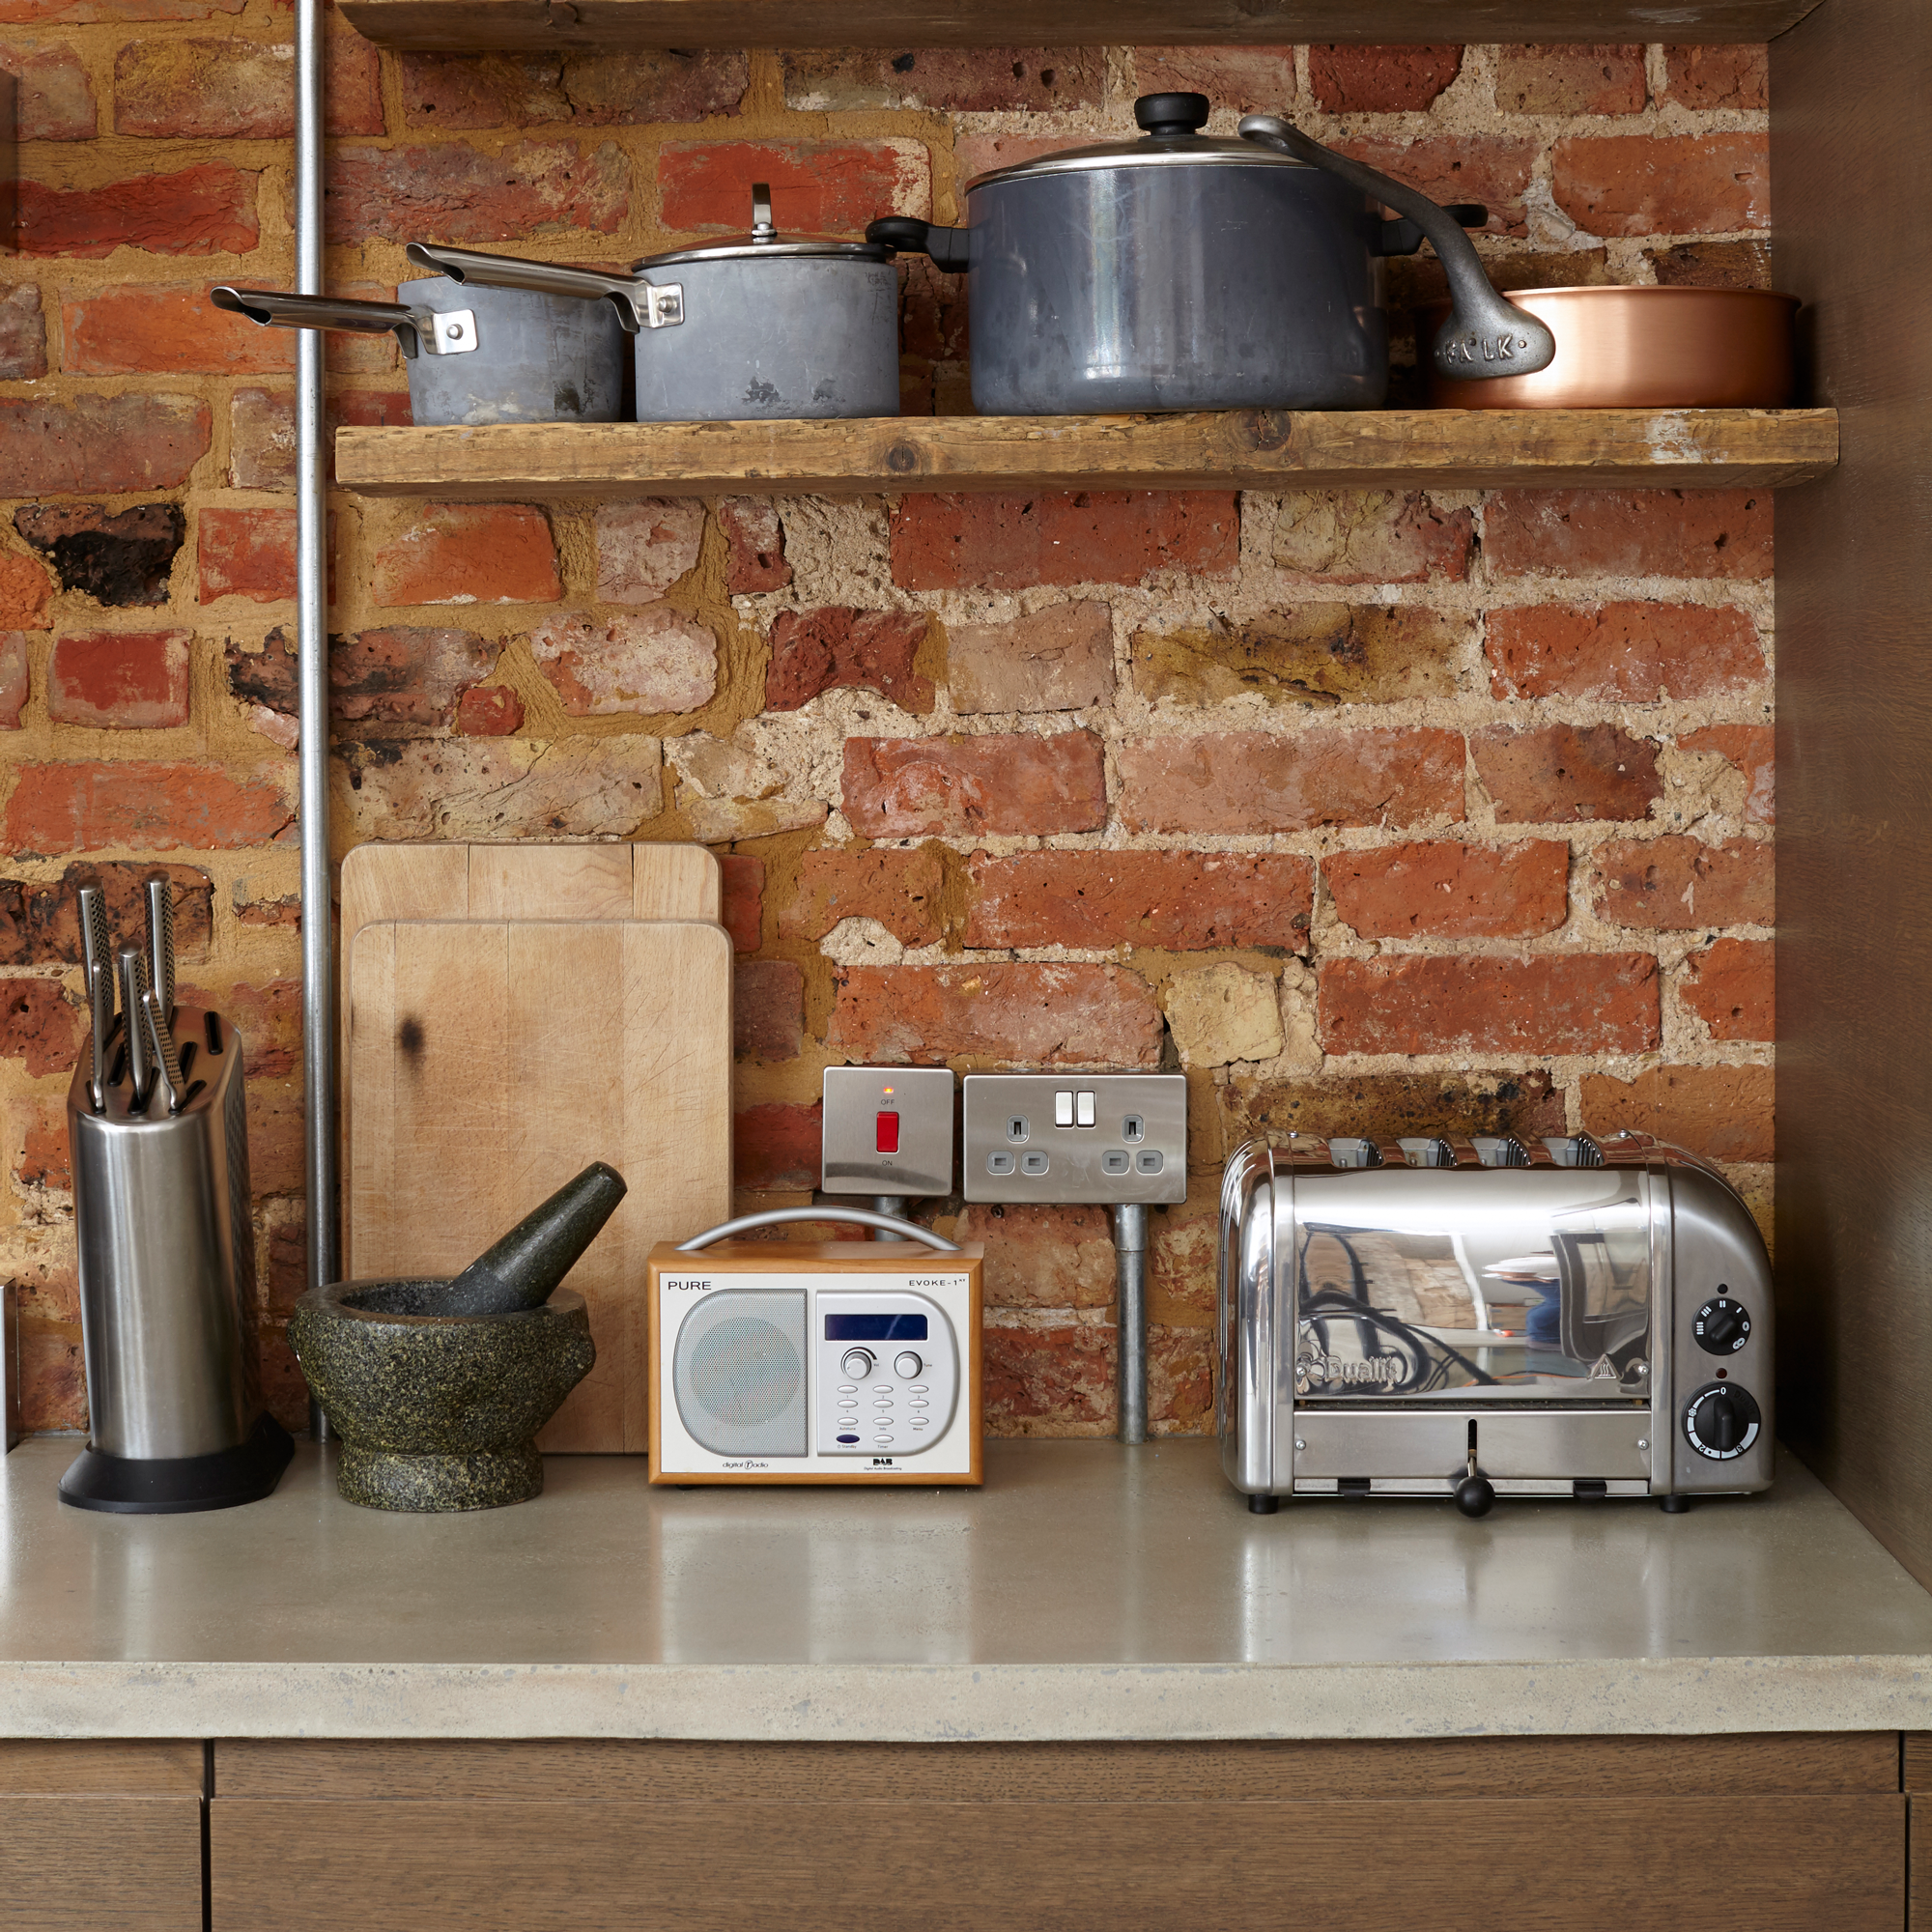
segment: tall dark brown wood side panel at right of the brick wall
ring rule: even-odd
[[[1779,1434],[1932,1584],[1932,8],[1772,44],[1777,286],[1841,464],[1777,504]]]

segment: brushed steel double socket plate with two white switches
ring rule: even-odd
[[[962,1138],[970,1202],[1188,1198],[1184,1074],[968,1074]]]

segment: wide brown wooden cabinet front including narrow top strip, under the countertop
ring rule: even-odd
[[[1905,1915],[1889,1731],[236,1743],[214,1760],[214,1932],[1895,1932]]]

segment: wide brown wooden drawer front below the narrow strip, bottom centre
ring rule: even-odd
[[[1897,1932],[1905,1799],[390,1804],[220,1799],[214,1932]],[[916,1907],[914,1907],[916,1901]]]

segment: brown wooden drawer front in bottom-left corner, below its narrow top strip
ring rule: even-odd
[[[199,1797],[0,1797],[0,1932],[199,1928]]]

